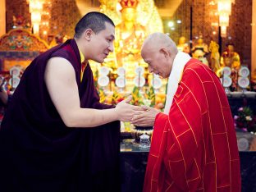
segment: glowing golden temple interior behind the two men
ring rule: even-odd
[[[117,26],[115,52],[104,63],[90,62],[102,103],[117,104],[132,94],[133,104],[162,110],[167,80],[149,74],[140,57],[144,38],[160,31],[217,73],[240,151],[256,151],[256,0],[135,0],[129,6],[118,0],[0,0],[0,83],[5,80],[5,89],[15,92],[34,57],[73,38],[75,24],[89,11],[102,11]],[[123,139],[145,132],[127,123],[121,131]],[[133,167],[123,191],[139,191],[148,151],[124,143],[121,151],[122,168]],[[240,158],[243,191],[256,191],[256,153],[240,153]]]

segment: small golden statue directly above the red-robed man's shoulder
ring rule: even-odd
[[[209,53],[208,45],[206,43],[203,43],[202,36],[199,36],[199,39],[197,39],[196,44],[191,49],[191,52],[192,52],[192,57],[208,65],[208,60],[206,58],[206,55]]]

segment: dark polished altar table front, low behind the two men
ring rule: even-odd
[[[121,192],[141,192],[149,149],[140,149],[130,139],[121,142]],[[240,151],[242,192],[256,191],[256,151]]]

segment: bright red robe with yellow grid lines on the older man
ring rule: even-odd
[[[185,65],[169,115],[156,117],[144,192],[240,191],[231,109],[217,75]]]

